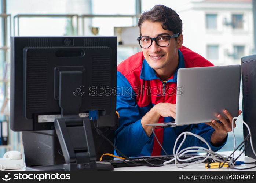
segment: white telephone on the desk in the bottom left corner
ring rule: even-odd
[[[23,167],[24,160],[18,151],[8,151],[3,158],[0,158],[0,170],[22,169]]]

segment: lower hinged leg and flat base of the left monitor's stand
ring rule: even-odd
[[[77,125],[82,120],[83,125]],[[86,171],[114,170],[109,162],[96,161],[91,122],[88,118],[74,120],[74,126],[66,126],[64,119],[55,120],[55,130],[66,163],[60,165],[26,167],[28,171]],[[66,139],[66,141],[65,141]],[[78,141],[80,139],[80,141]],[[86,142],[81,142],[86,139]],[[84,140],[85,141],[85,140]]]

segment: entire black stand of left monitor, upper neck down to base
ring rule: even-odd
[[[110,163],[96,162],[96,152],[89,118],[79,117],[82,97],[73,92],[83,85],[84,70],[68,70],[65,67],[56,69],[59,78],[55,78],[55,88],[58,87],[61,119],[55,119],[56,134],[64,155],[65,164],[40,167],[27,167],[28,170],[113,170]]]

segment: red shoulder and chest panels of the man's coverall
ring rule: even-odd
[[[184,57],[185,67],[213,66],[211,62],[206,60],[204,57],[202,57],[198,53],[195,53],[190,49],[186,48],[185,46],[182,46],[180,48],[180,51],[182,52],[182,55]],[[143,56],[143,52],[141,51],[136,53],[135,55],[128,57],[117,66],[117,71],[121,72],[121,74],[124,75],[124,77],[128,80],[131,87],[134,89],[135,93],[137,94],[136,103],[139,107],[145,107],[151,103],[153,104],[159,103],[156,101],[156,98],[158,94],[161,95],[161,90],[162,90],[161,87],[159,88],[159,86],[162,84],[160,79],[152,79],[152,80],[140,79],[140,72],[142,69],[143,60],[144,60],[144,56]],[[172,83],[172,84],[169,83],[168,85],[169,86],[173,85],[173,87],[176,87],[176,83]],[[156,91],[155,95],[152,94],[152,91],[149,91],[153,87],[155,87],[155,90],[154,90]],[[157,91],[157,88],[159,88],[159,92]],[[147,92],[150,92],[150,94],[148,95]],[[169,97],[169,99],[171,98],[172,97]],[[175,101],[170,100],[165,102],[176,103],[176,100]]]

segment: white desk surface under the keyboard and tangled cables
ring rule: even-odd
[[[224,154],[229,156],[232,151],[225,151],[225,152],[218,152],[219,154]],[[234,158],[236,158],[241,152],[240,151],[236,151]],[[245,156],[245,154],[242,154],[237,161],[244,161],[244,162],[253,162],[256,161],[253,158],[247,157]],[[254,167],[255,164],[244,164],[244,165],[240,165],[240,166],[236,166],[235,168],[249,168],[249,167]],[[231,169],[231,168],[226,168],[223,167],[221,169],[219,168],[205,168],[205,164],[204,163],[200,163],[200,164],[195,164],[195,165],[189,165],[185,168],[177,168],[174,164],[170,165],[170,166],[162,166],[162,167],[147,167],[147,166],[138,166],[138,167],[121,167],[121,168],[115,168],[114,171],[239,171],[239,170],[235,170],[235,169]],[[256,168],[253,169],[249,169],[248,171],[253,170],[256,171]]]

